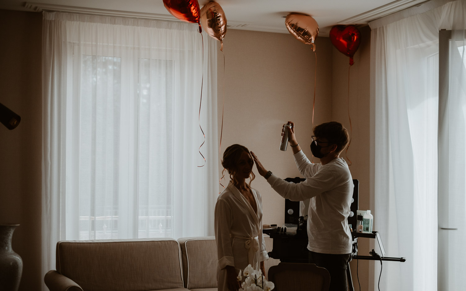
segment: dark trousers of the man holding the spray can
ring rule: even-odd
[[[309,263],[329,271],[329,291],[348,291],[346,269],[348,268],[349,255],[322,254],[309,251]]]

